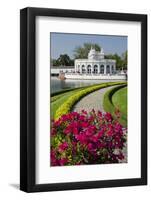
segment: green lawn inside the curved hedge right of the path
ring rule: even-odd
[[[115,92],[112,96],[112,102],[127,118],[127,87]]]

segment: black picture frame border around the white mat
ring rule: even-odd
[[[141,178],[36,184],[35,163],[35,19],[37,16],[141,23]],[[147,15],[48,8],[20,11],[20,190],[44,192],[147,184]]]

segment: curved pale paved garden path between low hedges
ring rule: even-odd
[[[102,88],[86,95],[80,101],[78,101],[78,103],[74,105],[73,111],[80,112],[81,110],[85,110],[87,112],[90,112],[92,109],[94,109],[95,111],[100,110],[104,112],[103,109],[104,94],[113,87],[117,87],[117,85]]]

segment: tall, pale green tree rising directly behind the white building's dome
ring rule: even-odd
[[[74,58],[75,59],[87,58],[91,47],[93,47],[96,51],[100,51],[101,50],[101,47],[98,44],[84,43],[83,46],[78,46],[78,47],[75,48],[75,50],[74,50]]]

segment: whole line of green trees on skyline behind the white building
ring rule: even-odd
[[[91,47],[96,51],[100,51],[101,47],[98,44],[84,43],[83,46],[78,46],[74,49],[74,59],[87,58]],[[61,54],[59,58],[52,60],[53,66],[73,66],[74,59],[71,59],[67,54]],[[105,59],[115,59],[117,69],[127,69],[127,51],[120,56],[117,53],[105,55]]]

